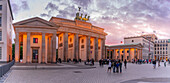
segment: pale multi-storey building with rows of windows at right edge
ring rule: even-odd
[[[170,39],[155,40],[154,53],[156,60],[164,60],[170,58]]]

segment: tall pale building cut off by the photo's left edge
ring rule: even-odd
[[[0,62],[12,60],[12,20],[9,0],[0,0]]]

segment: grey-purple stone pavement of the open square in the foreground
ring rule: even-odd
[[[74,64],[61,64],[75,66]],[[81,67],[83,64],[80,64]],[[78,65],[76,65],[78,66]],[[5,83],[170,83],[170,65],[153,69],[152,64],[128,64],[123,73],[107,72],[107,65],[90,69],[17,70]]]

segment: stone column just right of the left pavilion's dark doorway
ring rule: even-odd
[[[45,63],[45,33],[42,33],[41,63]]]

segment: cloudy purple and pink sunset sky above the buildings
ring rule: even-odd
[[[105,29],[106,45],[142,34],[170,39],[170,0],[11,0],[11,6],[14,23],[52,16],[74,20],[81,7],[81,13],[90,16],[90,23]]]

